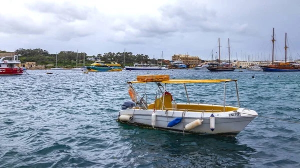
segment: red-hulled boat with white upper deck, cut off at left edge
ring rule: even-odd
[[[0,57],[0,75],[22,75],[23,68],[16,67],[15,64],[20,64],[17,60],[20,54],[14,56]]]

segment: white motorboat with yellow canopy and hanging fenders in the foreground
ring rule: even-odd
[[[158,89],[155,93],[155,101],[147,104],[145,91],[137,92],[133,85],[146,85],[149,82],[156,83]],[[228,82],[235,83],[236,106],[225,104]],[[191,103],[186,90],[185,84],[187,83],[224,83],[223,104]],[[253,110],[240,108],[237,80],[169,79],[168,75],[144,75],[137,76],[137,81],[127,82],[127,84],[133,102],[125,102],[122,105],[118,121],[129,125],[191,134],[235,136],[257,116]],[[186,103],[177,103],[173,100],[172,95],[166,90],[166,86],[170,84],[183,84],[187,98]]]

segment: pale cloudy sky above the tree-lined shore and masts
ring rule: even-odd
[[[0,50],[42,48],[86,52],[132,52],[170,59],[173,54],[239,60],[300,56],[299,0],[3,0]],[[231,58],[232,58],[231,57]]]

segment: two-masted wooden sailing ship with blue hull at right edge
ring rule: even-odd
[[[274,39],[274,28],[273,28],[273,36],[272,36],[272,43],[273,43],[273,48],[272,48],[272,64],[271,65],[267,65],[267,66],[260,66],[262,68],[263,71],[280,71],[280,72],[291,72],[291,71],[300,71],[300,66],[298,65],[293,65],[289,62],[286,62],[286,49],[288,48],[286,46],[286,33],[285,33],[285,62],[284,63],[274,63],[274,41],[276,41]]]

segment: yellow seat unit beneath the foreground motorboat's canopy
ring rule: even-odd
[[[162,106],[162,101],[163,101],[163,95],[162,95],[160,98],[157,98],[154,103],[149,104],[148,109],[153,109],[154,107],[155,107],[155,110],[172,109],[172,100],[173,100],[172,95],[168,92],[165,92],[163,106]]]

